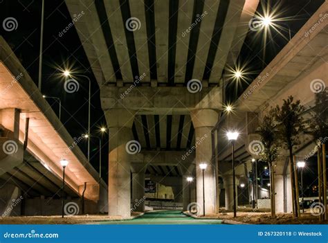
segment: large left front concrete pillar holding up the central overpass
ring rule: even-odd
[[[127,143],[133,140],[131,127],[134,111],[129,109],[109,109],[105,112],[109,127],[109,216],[131,215],[130,156]]]

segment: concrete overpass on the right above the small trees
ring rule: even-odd
[[[304,26],[295,34],[289,44],[272,60],[268,66],[249,85],[235,102],[235,114],[230,114],[221,120],[218,132],[220,163],[229,162],[231,158],[230,145],[224,139],[224,131],[238,129],[241,137],[238,139],[236,159],[247,163],[257,155],[252,151],[252,145],[259,140],[256,129],[259,119],[271,107],[281,105],[282,100],[293,96],[307,107],[304,118],[308,120],[309,109],[314,105],[317,88],[327,87],[327,2],[313,14]],[[320,90],[320,89],[319,89]],[[295,151],[296,159],[304,161],[316,146],[309,135],[302,136],[302,143]],[[289,159],[287,152],[280,151],[280,158],[275,161],[275,208],[278,213],[291,212],[291,185],[289,180]],[[221,171],[229,181],[231,171]],[[229,177],[227,177],[229,175]]]

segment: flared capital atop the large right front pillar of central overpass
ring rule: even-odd
[[[219,118],[219,111],[216,109],[192,109],[190,111],[194,128],[215,127]]]

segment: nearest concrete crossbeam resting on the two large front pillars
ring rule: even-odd
[[[100,92],[102,109],[134,109],[137,114],[189,114],[189,109],[222,109],[221,89],[203,88],[189,93],[186,87],[103,87]]]

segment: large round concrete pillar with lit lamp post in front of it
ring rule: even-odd
[[[199,164],[207,163],[205,170],[205,213],[215,213],[216,206],[216,178],[215,165],[212,163],[211,131],[218,120],[218,112],[213,109],[194,109],[190,113],[195,129],[196,142],[196,179],[198,215],[203,215],[203,174]]]

